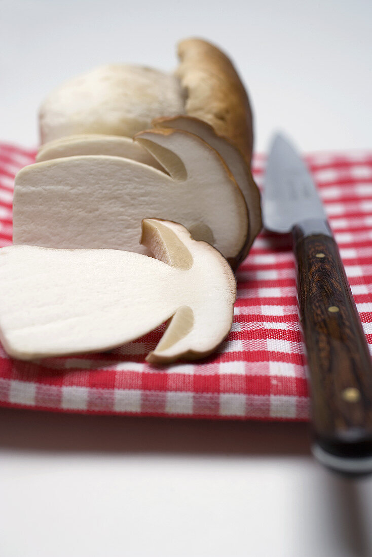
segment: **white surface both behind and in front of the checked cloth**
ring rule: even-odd
[[[255,111],[307,151],[371,148],[368,1],[0,0],[0,141],[37,144],[41,99],[106,62],[171,69],[220,43]],[[366,557],[372,480],[313,462],[306,424],[0,410],[2,557]]]

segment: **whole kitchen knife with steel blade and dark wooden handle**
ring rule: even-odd
[[[291,233],[305,339],[312,452],[347,475],[372,472],[372,364],[340,253],[306,165],[277,135],[264,177],[263,222]]]

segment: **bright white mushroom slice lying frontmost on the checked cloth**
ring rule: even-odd
[[[0,340],[31,360],[115,348],[171,319],[150,362],[199,358],[229,333],[234,274],[180,224],[145,219],[155,258],[120,250],[0,249]]]

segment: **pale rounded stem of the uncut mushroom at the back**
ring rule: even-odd
[[[148,67],[114,64],[75,77],[40,108],[41,142],[71,134],[133,137],[157,116],[184,111],[179,80]]]

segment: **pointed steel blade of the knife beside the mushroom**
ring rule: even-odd
[[[282,135],[273,139],[264,178],[263,222],[273,232],[290,232],[308,219],[326,220],[305,163]]]

